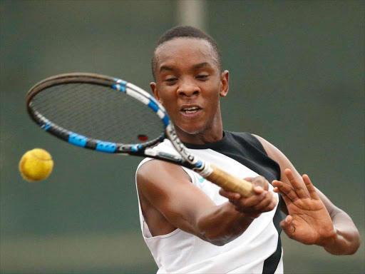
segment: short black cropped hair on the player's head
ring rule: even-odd
[[[160,39],[158,39],[157,44],[155,46],[155,49],[153,50],[153,56],[151,60],[151,66],[152,66],[152,75],[153,78],[155,77],[155,69],[157,67],[157,56],[156,51],[158,47],[172,39],[178,38],[178,37],[187,37],[187,38],[197,38],[207,41],[210,46],[212,46],[212,49],[215,53],[215,58],[217,59],[217,65],[222,72],[222,54],[220,54],[220,50],[218,49],[217,43],[209,34],[206,34],[204,31],[200,31],[200,29],[196,29],[192,26],[175,26],[172,29],[169,29],[168,31],[165,31],[165,33],[160,36]]]

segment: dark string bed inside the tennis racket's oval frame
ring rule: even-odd
[[[152,109],[113,88],[96,84],[51,86],[34,96],[31,108],[68,131],[101,141],[143,143],[164,131]]]

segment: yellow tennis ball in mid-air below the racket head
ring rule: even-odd
[[[51,174],[53,160],[51,154],[42,148],[27,151],[19,162],[21,176],[30,182],[41,181]]]

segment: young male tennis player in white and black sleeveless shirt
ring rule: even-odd
[[[220,97],[227,96],[229,73],[210,36],[189,26],[170,29],[158,41],[152,69],[150,87],[181,141],[251,181],[256,193],[244,198],[186,168],[142,161],[136,174],[140,220],[158,273],[282,273],[281,228],[332,254],[356,252],[359,233],[351,218],[307,175],[263,138],[223,131]],[[168,141],[159,146],[173,150]]]

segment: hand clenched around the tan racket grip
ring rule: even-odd
[[[248,198],[242,197],[239,193],[228,192],[220,189],[220,195],[228,198],[235,210],[245,213],[248,217],[257,218],[261,213],[271,211],[275,208],[277,200],[269,189],[269,182],[262,176],[255,178],[245,178],[245,181],[251,182],[255,196]]]

